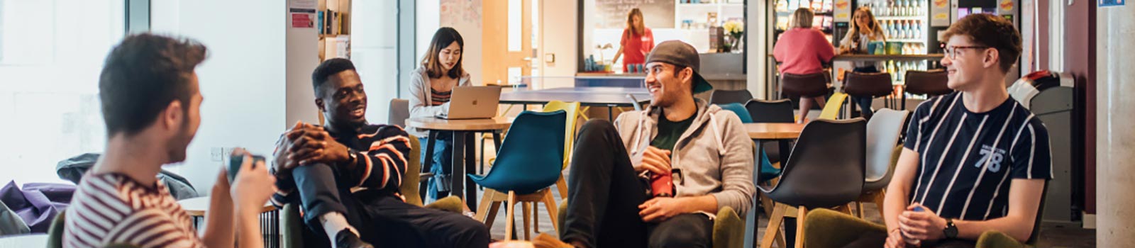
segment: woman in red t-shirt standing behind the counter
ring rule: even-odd
[[[642,24],[642,11],[638,8],[631,9],[627,14],[627,28],[623,29],[623,39],[619,41],[619,52],[611,62],[619,61],[623,57],[623,71],[631,71],[630,65],[646,62],[646,54],[654,50],[654,33]],[[641,71],[640,71],[641,72]]]

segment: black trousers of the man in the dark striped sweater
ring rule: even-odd
[[[471,217],[414,206],[389,191],[351,193],[336,183],[335,170],[310,164],[292,171],[308,230],[305,247],[331,247],[319,216],[337,212],[359,230],[363,241],[380,247],[488,247],[489,231]],[[417,196],[411,196],[417,197]]]

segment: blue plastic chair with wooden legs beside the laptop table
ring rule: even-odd
[[[557,226],[557,208],[552,191],[548,188],[560,179],[564,160],[564,130],[568,113],[563,110],[554,112],[524,111],[513,120],[508,136],[501,143],[496,162],[486,176],[469,174],[477,185],[485,187],[485,195],[477,208],[477,220],[493,226],[493,220],[506,202],[505,239],[512,238],[513,207],[520,203],[544,203],[548,211],[552,225]],[[526,204],[527,208],[527,204]],[[531,223],[524,213],[524,236],[528,238],[528,224]]]

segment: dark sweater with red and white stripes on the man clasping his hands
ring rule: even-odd
[[[410,159],[410,137],[405,130],[398,126],[367,125],[358,132],[328,132],[350,148],[355,157],[353,164],[336,165],[336,179],[350,182],[338,185],[350,185],[352,191],[376,189],[397,193]],[[291,171],[272,173],[277,177],[276,187],[279,189],[271,198],[272,205],[281,207],[297,200],[299,194],[291,194],[295,189]]]

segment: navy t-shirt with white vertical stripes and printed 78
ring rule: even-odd
[[[903,146],[918,152],[910,203],[948,219],[1004,216],[1012,179],[1052,178],[1049,132],[1012,99],[975,113],[961,94],[931,99],[910,119]]]

